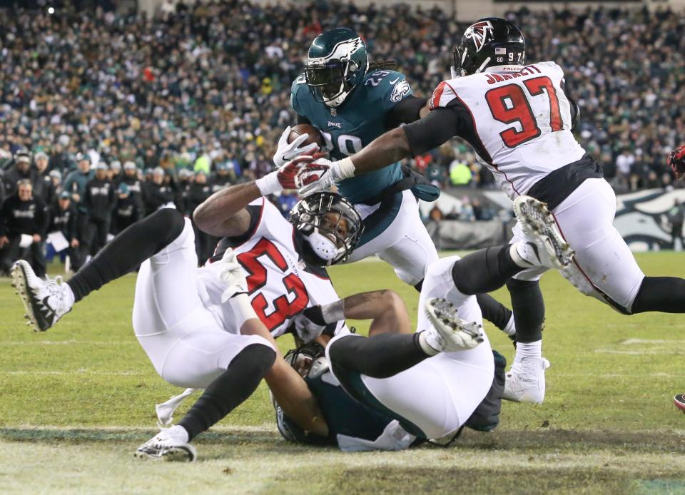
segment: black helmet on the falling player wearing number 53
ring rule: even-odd
[[[308,240],[303,258],[315,266],[347,260],[364,225],[352,203],[336,193],[315,193],[301,199],[290,211],[290,223]]]

